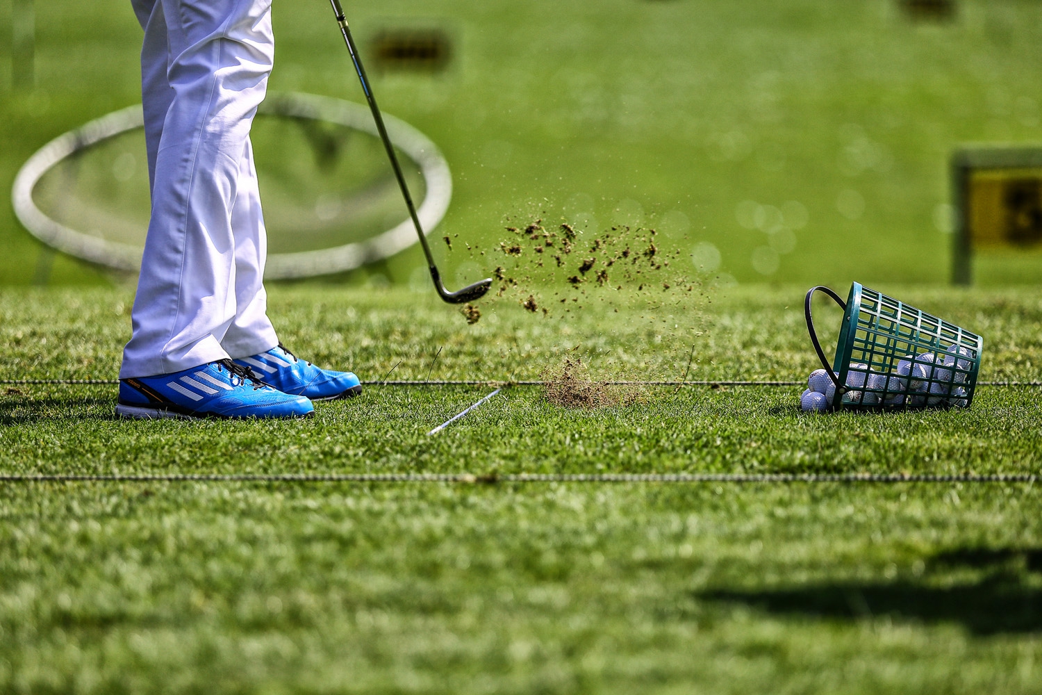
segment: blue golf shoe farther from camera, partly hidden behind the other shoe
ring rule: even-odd
[[[312,400],[334,400],[362,394],[362,383],[351,372],[320,369],[298,358],[281,344],[267,352],[235,359],[235,363],[248,367],[262,381],[283,393]]]

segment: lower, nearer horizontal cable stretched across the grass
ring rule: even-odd
[[[665,482],[665,483],[950,483],[1026,482],[1029,473],[110,473],[0,474],[0,482],[452,482],[465,485],[540,482]]]

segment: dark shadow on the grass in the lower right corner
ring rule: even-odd
[[[814,584],[763,591],[714,590],[696,595],[741,602],[770,613],[828,619],[891,616],[922,622],[960,623],[977,635],[1042,630],[1042,589],[1025,573],[1042,572],[1039,548],[959,548],[935,555],[922,580]],[[976,570],[976,581],[936,586],[931,575]],[[1036,582],[1033,582],[1036,584]]]

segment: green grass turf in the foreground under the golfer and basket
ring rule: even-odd
[[[1042,294],[888,290],[984,334],[982,378],[1042,376]],[[0,378],[111,377],[128,298],[0,292]],[[731,290],[672,317],[702,332],[690,378],[805,375],[801,298]],[[639,305],[485,308],[467,326],[425,294],[272,292],[283,341],[367,379],[530,378],[575,345],[598,376],[676,378],[690,349]],[[238,423],[9,389],[2,473],[1014,473],[1042,451],[1031,388],[835,416],[800,414],[798,388],[596,412],[514,388],[436,438],[489,389],[371,387]],[[0,690],[1040,692],[1040,511],[1025,485],[3,485]]]

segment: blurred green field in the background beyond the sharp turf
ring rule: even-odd
[[[45,249],[7,192],[50,139],[140,101],[141,29],[127,0],[38,0],[33,83],[19,88],[11,27],[24,2],[0,0],[0,283],[129,282]],[[899,0],[346,9],[367,59],[388,27],[433,26],[452,43],[444,70],[372,71],[382,108],[431,138],[452,169],[438,238],[487,246],[529,217],[644,224],[725,283],[946,282],[952,148],[1042,141],[1037,0],[957,0],[944,20],[915,20]],[[270,89],[359,101],[328,3],[273,13]],[[279,169],[265,154],[262,176]],[[436,248],[457,281],[495,265]],[[328,279],[425,287],[422,266],[413,247]],[[981,257],[976,277],[1034,282],[1042,256]]]

